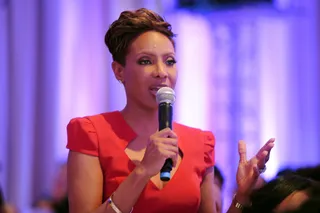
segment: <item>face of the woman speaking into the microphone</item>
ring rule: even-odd
[[[172,42],[163,34],[149,31],[130,45],[122,80],[128,103],[155,109],[160,87],[174,89],[177,80],[176,56]]]

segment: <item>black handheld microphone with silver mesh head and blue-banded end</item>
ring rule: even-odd
[[[156,93],[156,100],[159,104],[158,121],[159,131],[169,127],[172,129],[172,106],[176,100],[175,93],[170,87],[161,87]],[[160,179],[169,181],[171,179],[172,159],[166,159],[160,170]]]

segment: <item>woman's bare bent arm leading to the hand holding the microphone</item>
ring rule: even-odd
[[[149,181],[143,167],[137,166],[113,195],[114,204],[123,212],[130,212]],[[130,195],[130,196],[128,196]],[[102,204],[103,174],[98,157],[69,152],[68,199],[70,213],[114,213]]]

